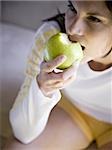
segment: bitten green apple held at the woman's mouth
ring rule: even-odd
[[[67,59],[58,67],[62,70],[70,67],[75,61],[81,61],[83,58],[81,45],[71,42],[67,34],[59,32],[48,40],[45,48],[45,60],[53,60],[63,54],[66,55]]]

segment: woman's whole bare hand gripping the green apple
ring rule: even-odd
[[[61,55],[52,61],[42,63],[38,83],[45,95],[63,89],[75,80],[79,63],[73,64],[62,72],[54,72],[54,69],[63,63],[65,59],[66,56]]]

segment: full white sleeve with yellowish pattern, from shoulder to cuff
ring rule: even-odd
[[[59,90],[51,98],[45,97],[36,82],[45,43],[56,32],[59,32],[59,29],[49,23],[43,24],[37,31],[32,51],[28,57],[24,83],[9,112],[14,136],[24,144],[31,142],[41,134],[50,111],[61,98]]]

